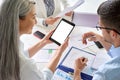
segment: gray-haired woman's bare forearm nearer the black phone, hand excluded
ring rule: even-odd
[[[28,49],[29,57],[32,57],[33,55],[35,55],[45,45],[46,43],[44,41],[40,41],[36,45],[30,47]]]

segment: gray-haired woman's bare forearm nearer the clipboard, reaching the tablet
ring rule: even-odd
[[[50,60],[50,62],[48,63],[47,67],[54,72],[56,69],[56,66],[62,56],[62,53],[64,52],[64,50],[67,48],[68,46],[68,39],[66,39],[66,41],[58,47],[56,53],[54,54],[54,56],[52,57],[52,59]]]

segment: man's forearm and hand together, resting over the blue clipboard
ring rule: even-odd
[[[82,80],[80,73],[83,70],[83,68],[86,66],[87,59],[84,57],[78,58],[75,61],[75,69],[74,69],[74,80]]]

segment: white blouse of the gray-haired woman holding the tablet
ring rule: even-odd
[[[19,56],[21,80],[51,80],[53,72],[48,68],[40,70],[32,59],[27,58],[24,55],[24,45],[22,42],[20,42]]]

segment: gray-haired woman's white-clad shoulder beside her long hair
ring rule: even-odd
[[[24,55],[20,56],[20,77],[21,80],[44,80],[36,63]]]

